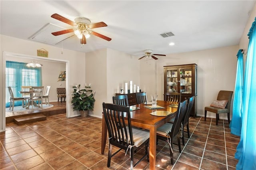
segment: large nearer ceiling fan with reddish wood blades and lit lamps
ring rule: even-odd
[[[106,27],[107,24],[105,24],[104,22],[97,22],[97,23],[91,24],[91,21],[88,18],[84,18],[84,17],[76,17],[75,22],[73,22],[63,16],[60,16],[59,14],[52,14],[51,17],[74,27],[72,29],[52,32],[52,35],[54,36],[59,36],[62,34],[74,32],[75,35],[80,39],[81,44],[86,44],[86,38],[89,38],[91,34],[107,41],[112,40],[107,36],[104,36],[102,34],[92,31],[93,28]]]

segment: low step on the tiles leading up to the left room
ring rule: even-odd
[[[36,121],[45,121],[46,116],[42,114],[38,115],[30,115],[30,116],[24,116],[24,117],[17,117],[13,119],[13,122],[17,125],[24,125],[25,123],[32,123]]]

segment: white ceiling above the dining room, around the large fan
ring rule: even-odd
[[[238,45],[254,4],[255,0],[1,0],[0,34],[29,40],[48,23],[72,28],[50,17],[57,13],[72,21],[78,16],[89,18],[92,23],[103,21],[107,27],[93,30],[112,38],[108,42],[91,36],[81,47],[80,40],[72,36],[54,45],[57,47],[82,52],[108,47],[131,55],[143,54],[145,49],[159,54],[197,51]],[[162,38],[159,35],[169,31],[175,36]],[[170,42],[175,45],[170,46]]]

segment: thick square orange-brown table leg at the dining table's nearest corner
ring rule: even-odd
[[[156,169],[156,127],[151,126],[149,132],[149,166],[150,170]]]

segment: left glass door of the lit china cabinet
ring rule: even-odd
[[[178,69],[168,69],[166,71],[166,92],[179,92],[178,89]]]

